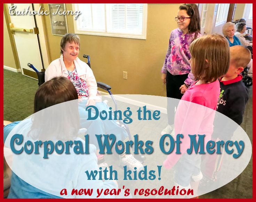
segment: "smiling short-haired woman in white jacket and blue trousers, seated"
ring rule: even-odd
[[[104,109],[109,110],[106,103],[101,102],[101,99],[99,96],[97,96],[97,82],[95,80],[93,71],[85,62],[78,58],[79,50],[79,36],[72,33],[65,34],[61,39],[62,55],[60,58],[51,62],[48,66],[45,72],[45,81],[48,81],[55,76],[64,76],[72,81],[77,90],[79,98],[82,98],[83,101],[80,103],[80,107],[85,108],[89,105],[96,105],[99,111]],[[82,112],[87,113],[85,110],[82,110]],[[114,131],[117,131],[117,136],[119,136],[117,137],[118,140],[123,140],[127,137],[127,132],[114,120],[104,120],[103,124],[105,129],[115,128]],[[98,155],[98,158],[101,160],[102,155]],[[121,166],[127,165],[127,167],[131,170],[134,170],[134,167],[137,169],[143,168],[142,163],[136,160],[131,154],[119,155],[119,159]],[[104,160],[99,162],[106,165]]]

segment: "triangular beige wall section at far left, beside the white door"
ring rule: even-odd
[[[15,64],[13,50],[11,48],[11,41],[8,34],[5,16],[3,16],[3,65],[18,69]]]

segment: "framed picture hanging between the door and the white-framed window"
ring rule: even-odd
[[[64,3],[48,3],[51,33],[54,35],[65,35],[67,33],[67,18],[66,15],[59,15],[66,10]]]

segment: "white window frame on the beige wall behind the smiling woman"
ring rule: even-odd
[[[106,3],[105,3],[106,5]],[[78,10],[78,4],[72,3],[72,9]],[[80,16],[78,16],[80,17]],[[120,38],[131,38],[131,39],[146,39],[146,31],[147,31],[147,3],[143,3],[143,19],[142,19],[142,34],[128,34],[128,33],[114,33],[107,32],[107,18],[106,18],[106,6],[105,6],[105,31],[90,31],[90,30],[82,30],[77,26],[77,19],[73,18],[74,23],[74,31],[75,34],[86,34],[86,35],[96,35],[96,36],[105,36],[105,37],[120,37]]]

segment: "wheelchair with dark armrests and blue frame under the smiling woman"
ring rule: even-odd
[[[83,58],[87,58],[87,65],[91,68],[91,64],[90,64],[90,56],[89,55],[83,55]],[[38,86],[41,86],[44,82],[45,82],[45,71],[41,71],[39,72],[37,70],[37,68],[35,68],[33,66],[33,64],[31,63],[27,63],[27,66],[29,66],[30,68],[32,68],[36,73],[37,73],[37,76],[38,76]],[[106,83],[102,83],[102,82],[97,82],[97,87],[107,91],[115,105],[115,110],[117,110],[117,101],[115,100],[112,92],[111,92],[111,86],[107,85]],[[131,134],[130,134],[130,130],[127,126],[127,124],[123,123],[121,120],[118,120],[117,121],[117,124],[119,127],[123,128],[126,130],[127,134],[128,134],[128,137],[129,137],[129,140],[132,140],[131,138]],[[134,148],[133,148],[133,152],[134,152]],[[145,156],[144,155],[141,155],[141,154],[134,154],[134,157],[141,163],[144,162],[145,160]]]

